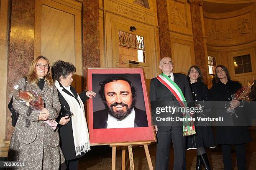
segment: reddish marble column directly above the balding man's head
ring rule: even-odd
[[[172,57],[166,0],[156,0],[156,7],[159,24],[160,57]]]

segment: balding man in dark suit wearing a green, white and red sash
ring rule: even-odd
[[[174,81],[177,84],[177,86],[183,93],[185,100],[192,101],[192,92],[190,90],[187,77],[183,74],[173,73],[172,59],[169,57],[162,58],[159,63],[159,68],[166,76],[168,76],[172,81]],[[177,103],[177,99],[173,95],[173,93],[156,77],[151,79],[150,82],[150,100],[151,103],[161,102],[164,103],[164,105],[174,105],[171,104],[172,102],[176,105]],[[154,111],[153,114],[155,114]],[[173,143],[174,148],[173,169],[185,170],[185,137],[183,136],[182,122],[168,121],[167,125],[155,125],[155,129],[158,140],[156,144],[156,170],[168,169],[171,141]]]

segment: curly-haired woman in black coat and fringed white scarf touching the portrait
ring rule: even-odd
[[[54,84],[58,89],[62,107],[57,119],[59,121],[60,146],[69,170],[77,170],[79,158],[90,150],[83,102],[96,95],[92,91],[77,94],[77,91],[71,86],[75,71],[74,65],[61,60],[56,61],[52,67]],[[64,112],[63,105],[74,114],[72,117],[61,117],[62,112]],[[62,167],[65,166],[62,165]]]

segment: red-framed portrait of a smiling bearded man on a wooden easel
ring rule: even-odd
[[[87,68],[87,90],[91,145],[156,142],[142,68]]]

